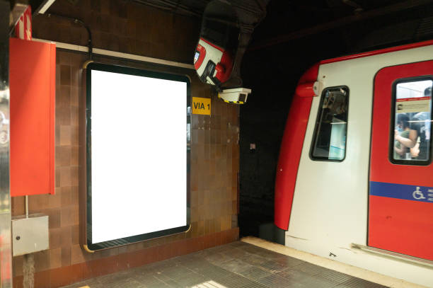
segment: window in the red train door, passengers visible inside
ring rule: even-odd
[[[392,163],[430,163],[432,79],[403,79],[393,86]]]

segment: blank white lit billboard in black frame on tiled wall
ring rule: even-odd
[[[186,231],[189,79],[95,63],[86,74],[88,247]]]

